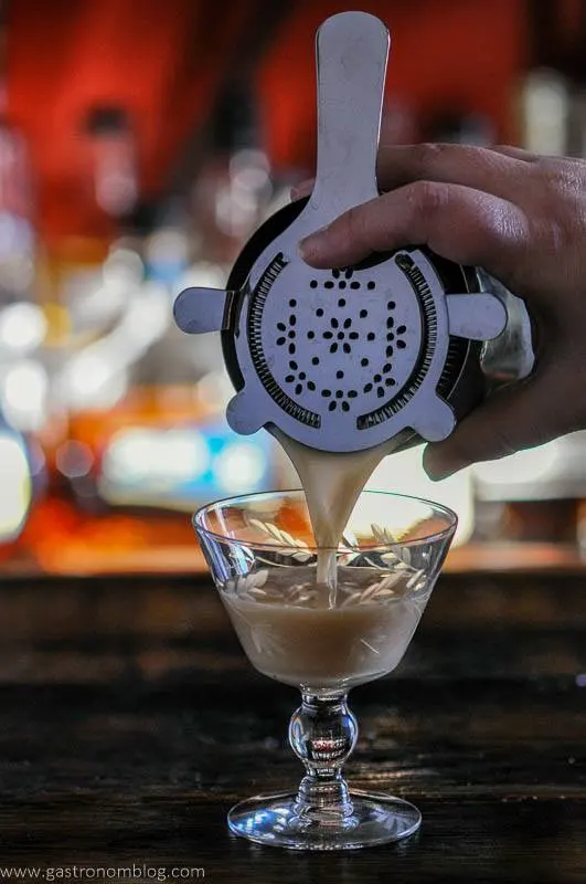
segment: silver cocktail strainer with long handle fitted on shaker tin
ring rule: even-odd
[[[407,431],[447,436],[482,396],[479,347],[507,324],[471,269],[428,250],[376,254],[318,271],[299,240],[379,196],[376,154],[388,32],[344,12],[317,35],[318,159],[309,200],[280,210],[248,242],[226,292],[188,288],[188,333],[221,330],[239,433],[278,428],[323,451],[359,451]]]

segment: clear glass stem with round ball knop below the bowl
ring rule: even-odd
[[[301,697],[289,724],[289,743],[307,771],[296,810],[308,820],[333,822],[353,811],[342,767],[356,745],[356,719],[344,693],[301,692]]]

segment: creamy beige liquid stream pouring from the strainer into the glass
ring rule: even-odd
[[[338,545],[364,485],[390,452],[388,442],[366,451],[333,453],[302,445],[278,430],[273,433],[301,481],[318,546],[317,581],[328,587],[328,603],[333,607]]]

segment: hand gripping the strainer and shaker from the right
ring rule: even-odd
[[[383,147],[379,182],[388,192],[300,243],[308,264],[347,266],[425,244],[499,278],[525,301],[536,329],[532,375],[429,444],[427,473],[443,478],[586,429],[586,162],[512,147]]]

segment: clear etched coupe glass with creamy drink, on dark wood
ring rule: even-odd
[[[422,820],[416,807],[351,791],[342,777],[358,736],[348,692],[399,663],[456,515],[416,497],[363,492],[339,548],[320,549],[319,557],[300,491],[220,501],[193,522],[248,660],[301,692],[289,724],[306,768],[298,790],[239,802],[230,829],[297,850],[363,848],[413,834]],[[321,579],[332,572],[337,586]]]

